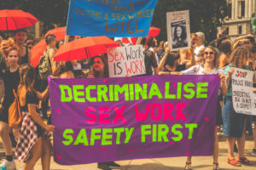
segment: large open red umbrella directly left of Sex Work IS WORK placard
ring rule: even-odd
[[[55,61],[89,59],[107,53],[107,48],[119,47],[119,43],[108,37],[84,37],[62,45],[55,54]]]

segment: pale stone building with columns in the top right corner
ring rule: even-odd
[[[231,39],[252,32],[251,15],[256,11],[256,0],[228,0],[230,16],[224,20]]]

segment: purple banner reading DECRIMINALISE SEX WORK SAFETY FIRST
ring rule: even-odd
[[[49,80],[55,161],[211,156],[218,88],[218,75]]]

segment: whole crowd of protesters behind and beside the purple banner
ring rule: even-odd
[[[178,29],[181,28],[177,28]],[[232,83],[230,77],[234,68],[256,71],[256,45],[254,35],[249,34],[231,41],[224,28],[219,28],[217,38],[207,43],[203,32],[191,33],[191,48],[171,51],[168,42],[161,41],[158,46],[156,37],[143,37],[137,39],[137,44],[143,45],[143,54],[146,74],[150,75],[209,75],[218,74],[220,88],[218,91],[218,105],[216,113],[216,126],[214,144],[212,148],[213,169],[218,169],[218,132],[223,131],[226,136],[228,158],[232,166],[240,167],[241,164],[252,165],[244,155],[246,142],[246,127],[252,128],[256,116],[247,116],[236,113],[232,103]],[[69,37],[69,42],[74,37]],[[49,111],[49,86],[47,79],[40,77],[38,67],[30,65],[31,48],[33,40],[27,40],[27,31],[15,31],[14,37],[0,38],[0,78],[3,79],[5,95],[0,113],[0,135],[6,159],[0,166],[8,170],[16,169],[12,156],[12,140],[17,141],[15,156],[24,164],[20,169],[31,170],[41,157],[42,167],[49,170],[52,144],[50,133],[55,127],[51,125]],[[108,77],[107,54],[88,60],[54,61],[54,56],[63,41],[56,42],[55,35],[45,37],[47,48],[44,56],[49,59],[51,77],[58,78],[98,78]],[[131,45],[122,44],[121,45]],[[90,63],[92,69],[84,71],[84,63]],[[127,75],[128,77],[130,75]],[[256,82],[253,80],[253,82]],[[253,83],[253,92],[256,92],[256,83]],[[18,129],[9,127],[9,106],[13,103],[17,92],[23,119]],[[45,123],[46,120],[48,123]],[[249,126],[247,126],[249,125]],[[9,132],[14,134],[10,138]],[[256,156],[256,126],[253,129],[254,148]],[[234,156],[238,146],[238,159]],[[187,156],[185,169],[191,169],[192,157]],[[99,162],[98,167],[110,169],[119,167],[114,161]]]

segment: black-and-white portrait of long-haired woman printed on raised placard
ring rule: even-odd
[[[172,48],[183,48],[188,46],[187,31],[184,26],[175,26],[173,32]]]

